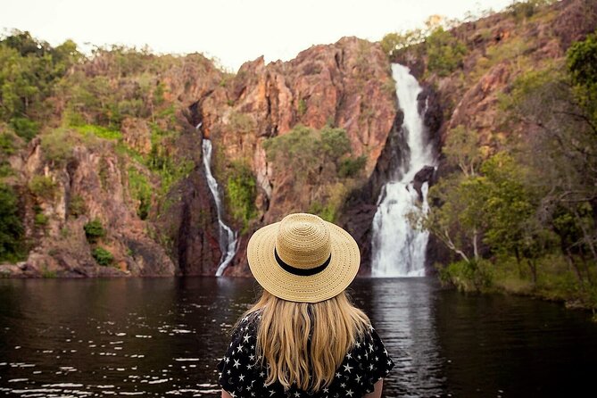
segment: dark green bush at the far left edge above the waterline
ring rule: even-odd
[[[0,261],[20,257],[23,234],[17,194],[12,187],[0,183]]]

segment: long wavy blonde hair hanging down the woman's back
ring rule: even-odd
[[[343,291],[319,303],[294,303],[263,290],[242,318],[261,311],[257,357],[268,367],[266,384],[293,384],[317,392],[331,385],[346,352],[364,336],[369,317]],[[238,328],[238,324],[236,328]]]

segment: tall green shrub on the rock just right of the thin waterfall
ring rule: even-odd
[[[232,217],[242,222],[243,231],[245,232],[249,221],[257,215],[255,208],[255,198],[257,197],[255,177],[246,162],[237,161],[230,164],[226,194]]]

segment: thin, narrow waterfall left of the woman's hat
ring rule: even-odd
[[[196,129],[201,128],[199,123]],[[232,228],[228,227],[222,220],[222,204],[220,198],[220,191],[218,189],[218,181],[213,178],[211,174],[211,140],[209,138],[203,138],[203,167],[205,169],[205,177],[207,178],[207,185],[210,187],[211,195],[216,203],[216,211],[218,212],[218,224],[220,226],[220,250],[222,256],[220,258],[220,265],[216,270],[216,277],[220,277],[224,272],[224,269],[228,267],[228,264],[234,258],[236,250],[238,250],[238,238],[236,232]]]

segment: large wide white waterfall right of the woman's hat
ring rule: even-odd
[[[371,275],[374,277],[423,277],[425,276],[425,253],[429,233],[410,227],[407,214],[417,211],[419,193],[413,187],[415,174],[425,166],[434,166],[431,144],[427,143],[426,129],[419,114],[417,96],[422,91],[419,82],[409,68],[392,64],[392,76],[396,82],[398,104],[404,113],[402,134],[408,148],[402,162],[394,170],[397,180],[386,183],[377,201],[373,218]],[[427,182],[421,187],[422,210],[428,210]]]

